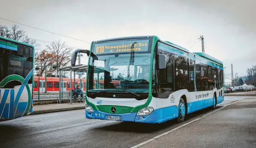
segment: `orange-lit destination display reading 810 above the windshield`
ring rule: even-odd
[[[118,41],[111,43],[95,44],[93,53],[95,55],[123,52],[145,52],[148,51],[149,40]],[[134,44],[134,46],[133,46]]]

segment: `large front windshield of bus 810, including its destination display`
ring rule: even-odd
[[[149,44],[149,39],[94,44],[92,52],[96,56],[89,58],[88,92],[127,93],[125,90],[129,90],[148,94]]]

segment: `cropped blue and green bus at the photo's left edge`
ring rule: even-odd
[[[0,121],[33,111],[34,47],[0,37]]]

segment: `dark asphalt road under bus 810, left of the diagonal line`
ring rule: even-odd
[[[217,108],[242,98],[253,97],[225,97]],[[24,116],[0,122],[0,148],[130,148],[211,111],[189,114],[180,124],[174,119],[159,125],[91,120],[84,110]]]

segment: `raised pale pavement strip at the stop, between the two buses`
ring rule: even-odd
[[[34,105],[32,114],[51,113],[66,110],[84,109],[84,103],[61,103],[61,104],[47,104],[47,105]]]

